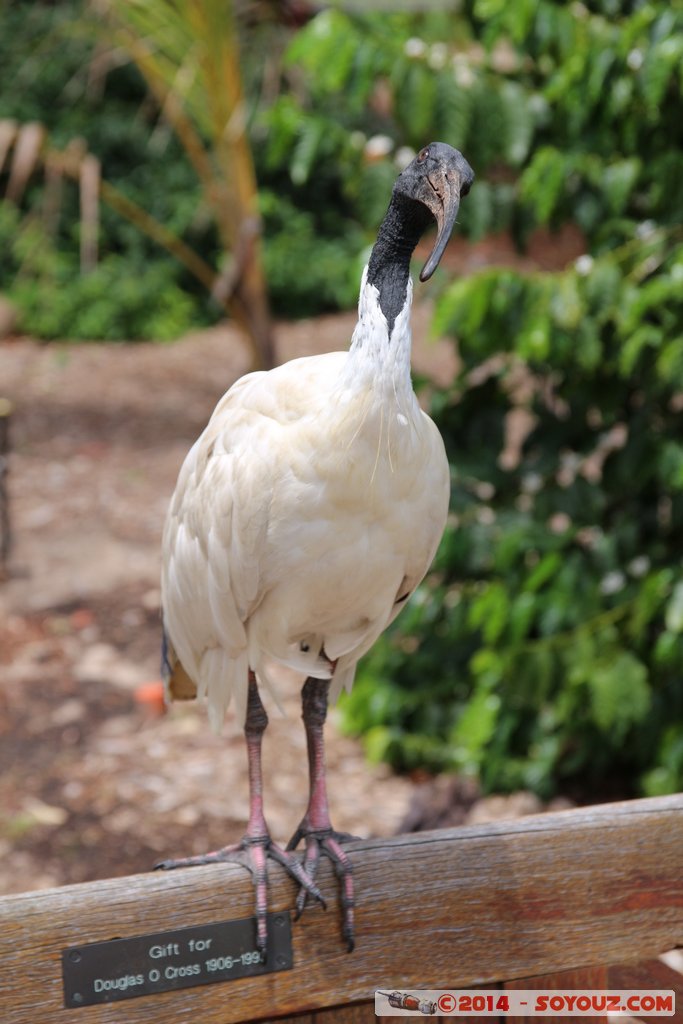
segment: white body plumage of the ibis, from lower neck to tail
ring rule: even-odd
[[[180,472],[164,532],[164,623],[214,727],[248,668],[350,688],[422,580],[449,505],[449,464],[411,382],[412,286],[391,332],[364,273],[348,352],[249,374]],[[400,602],[400,603],[397,603]]]

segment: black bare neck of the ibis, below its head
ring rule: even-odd
[[[379,304],[391,338],[408,299],[411,256],[431,214],[422,203],[393,195],[368,263],[368,284],[379,292]]]

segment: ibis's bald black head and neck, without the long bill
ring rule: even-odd
[[[368,282],[379,291],[380,308],[386,317],[389,336],[405,304],[411,256],[425,229],[435,219],[435,196],[428,175],[431,173],[436,179],[447,170],[457,175],[463,191],[469,190],[474,178],[465,158],[452,146],[431,142],[425,150],[429,153],[427,158],[420,161],[416,157],[396,179],[368,264]]]

